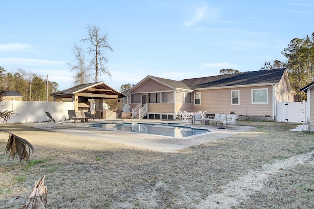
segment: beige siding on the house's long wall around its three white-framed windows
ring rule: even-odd
[[[252,104],[251,90],[263,88],[268,88],[268,104]],[[240,90],[240,105],[231,105],[231,90]],[[271,86],[213,89],[197,92],[201,92],[201,105],[193,105],[192,112],[206,111],[208,114],[234,112],[249,116],[272,116]]]

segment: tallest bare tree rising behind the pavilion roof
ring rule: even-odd
[[[113,51],[108,45],[107,35],[100,36],[100,29],[97,26],[87,25],[88,38],[81,41],[89,41],[91,46],[88,48],[89,54],[92,54],[91,64],[95,67],[95,82],[101,73],[108,75],[111,78],[110,71],[106,69],[105,64],[108,63],[108,59],[105,57],[105,49]]]

